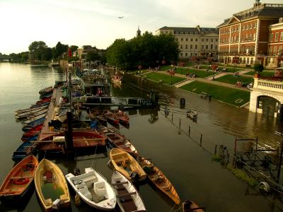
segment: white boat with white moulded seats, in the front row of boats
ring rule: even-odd
[[[116,195],[107,180],[99,172],[88,167],[82,175],[66,175],[67,181],[74,191],[89,206],[103,211],[115,208]]]

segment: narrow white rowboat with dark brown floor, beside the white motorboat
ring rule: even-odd
[[[136,187],[121,172],[114,170],[111,184],[115,189],[117,203],[122,212],[146,211]]]

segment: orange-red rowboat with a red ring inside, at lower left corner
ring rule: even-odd
[[[38,160],[34,155],[23,158],[8,173],[0,187],[1,198],[21,197],[33,182]]]

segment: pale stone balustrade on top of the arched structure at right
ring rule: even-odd
[[[283,93],[283,81],[272,78],[255,78],[253,88]]]

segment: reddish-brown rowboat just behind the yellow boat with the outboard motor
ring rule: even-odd
[[[129,140],[125,139],[125,136],[122,136],[121,134],[111,129],[108,130],[110,132],[105,133],[105,136],[107,136],[108,141],[113,146],[120,148],[123,151],[126,151],[127,153],[130,153],[133,156],[138,155],[137,149],[132,145],[132,143]]]

